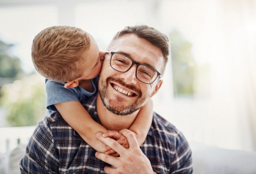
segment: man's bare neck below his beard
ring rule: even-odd
[[[97,95],[97,113],[102,125],[108,130],[121,131],[124,128],[129,129],[135,120],[139,111],[131,115],[120,116],[110,112],[103,104],[102,99]]]

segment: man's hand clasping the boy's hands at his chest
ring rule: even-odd
[[[99,132],[96,134],[97,139],[111,147],[116,151],[120,157],[114,157],[105,153],[96,152],[95,156],[113,167],[106,166],[104,171],[106,174],[134,174],[134,173],[146,173],[153,174],[152,166],[150,161],[141,151],[138,142],[134,134],[128,129],[120,131],[129,143],[129,148],[125,148],[120,145],[117,141],[110,137],[103,137],[103,133]]]

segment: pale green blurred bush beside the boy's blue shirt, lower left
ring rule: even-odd
[[[32,126],[41,120],[45,109],[44,79],[29,75],[1,89],[0,105],[6,110],[9,126]]]

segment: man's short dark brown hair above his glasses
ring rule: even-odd
[[[139,38],[145,39],[149,41],[153,46],[156,46],[161,50],[164,58],[162,73],[164,73],[165,66],[167,64],[169,56],[169,39],[167,35],[161,33],[153,27],[148,27],[147,25],[128,26],[122,29],[121,31],[118,31],[118,33],[114,35],[108,48],[112,46],[116,39],[123,37],[123,35],[126,34],[133,34]]]

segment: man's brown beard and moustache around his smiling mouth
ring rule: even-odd
[[[120,101],[120,105],[118,105],[118,101],[112,101],[110,99],[111,93],[108,93],[107,86],[109,81],[115,81],[128,89],[132,89],[138,93],[138,99],[135,103],[129,104],[128,106],[120,106],[122,102]],[[104,83],[105,82],[105,83]],[[99,78],[99,96],[102,99],[104,106],[112,113],[116,115],[129,115],[133,112],[139,110],[142,106],[144,106],[147,102],[146,96],[142,97],[142,92],[140,89],[136,88],[134,85],[127,85],[121,79],[115,79],[113,77],[108,77],[106,80]]]

